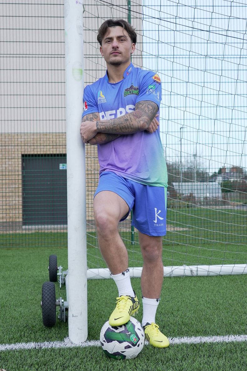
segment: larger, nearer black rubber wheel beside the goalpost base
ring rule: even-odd
[[[42,320],[46,327],[56,323],[56,292],[53,282],[45,282],[42,286]]]

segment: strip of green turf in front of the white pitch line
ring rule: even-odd
[[[7,371],[245,371],[246,343],[173,345],[155,349],[146,345],[137,358],[116,361],[100,348],[32,349],[0,354]]]

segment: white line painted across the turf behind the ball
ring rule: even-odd
[[[175,344],[203,344],[221,342],[242,342],[247,341],[247,335],[225,335],[225,336],[193,336],[191,338],[169,338],[170,345]],[[145,341],[145,344],[149,344]],[[99,340],[85,341],[81,345],[73,344],[69,338],[63,341],[44,341],[30,343],[0,344],[0,351],[20,349],[49,349],[49,348],[74,348],[74,347],[100,347]]]

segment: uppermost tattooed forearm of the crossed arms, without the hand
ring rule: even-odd
[[[116,119],[96,121],[97,131],[111,134],[133,134],[148,128],[158,111],[156,103],[141,101],[136,104],[135,111]]]

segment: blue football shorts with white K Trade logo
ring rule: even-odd
[[[101,191],[118,194],[133,210],[132,225],[148,236],[166,234],[167,188],[140,184],[111,172],[100,174],[99,185],[94,196]],[[128,214],[120,221],[125,220]]]

